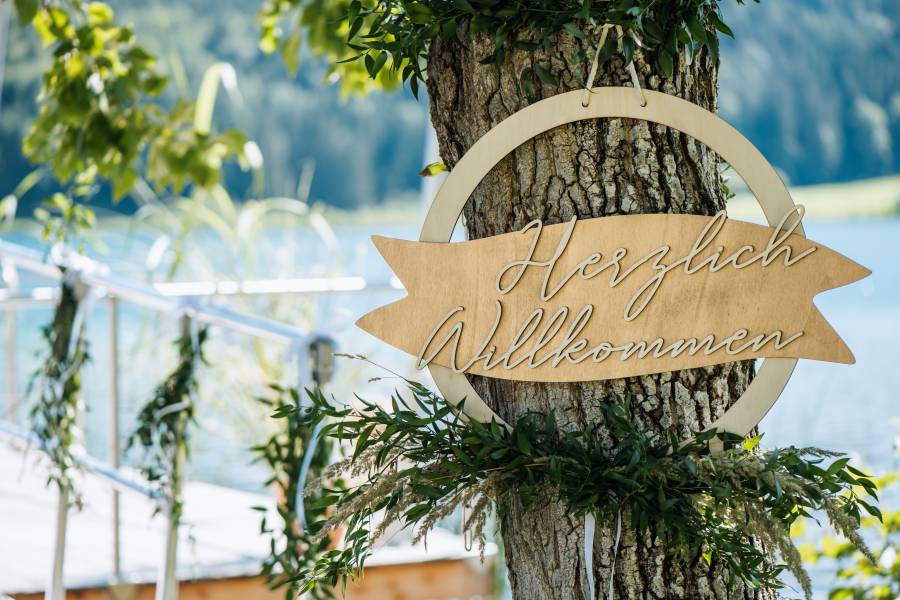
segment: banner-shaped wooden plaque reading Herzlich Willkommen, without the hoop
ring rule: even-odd
[[[715,217],[572,220],[461,243],[375,237],[408,296],[357,325],[436,364],[590,381],[761,357],[852,363],[813,304],[869,271],[793,232]]]

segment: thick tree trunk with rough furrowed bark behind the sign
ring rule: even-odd
[[[599,32],[593,32],[593,39]],[[430,50],[428,92],[431,120],[441,156],[452,168],[489,129],[528,104],[519,74],[534,63],[547,68],[560,88],[537,82],[544,97],[582,87],[587,64],[570,57],[583,42],[568,34],[553,40],[555,53],[510,51],[503,64],[479,61],[493,49],[487,36],[437,40]],[[585,47],[589,56],[592,49]],[[705,54],[688,65],[682,59],[669,79],[661,79],[636,57],[642,85],[715,110],[717,65]],[[580,75],[580,77],[579,77]],[[630,85],[622,60],[602,65],[598,86]],[[596,101],[596,100],[595,100]],[[464,218],[469,238],[579,218],[634,213],[712,215],[725,206],[718,157],[677,131],[646,121],[581,121],[549,131],[501,161],[469,199]],[[475,389],[501,417],[525,411],[555,411],[561,428],[585,430],[600,424],[598,437],[615,443],[602,427],[598,402],[613,395],[633,398],[639,422],[648,430],[674,430],[687,438],[721,416],[744,391],[752,362],[731,363],[623,380],[543,384],[471,377]],[[655,535],[637,537],[623,514],[622,538],[614,560],[614,522],[598,523],[594,538],[597,592],[606,597],[610,579],[616,598],[762,598],[766,593],[739,582],[702,557],[687,564],[666,553]],[[524,513],[513,507],[501,523],[513,597],[517,600],[587,599],[584,520],[562,502],[547,502]]]

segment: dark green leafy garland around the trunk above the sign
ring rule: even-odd
[[[308,1],[280,4],[287,10]],[[272,12],[268,12],[270,22]],[[717,60],[716,31],[732,36],[716,0],[352,0],[344,21],[347,46],[354,54],[341,62],[362,59],[373,79],[389,70],[393,77],[408,81],[416,95],[419,83],[426,80],[431,43],[439,36],[452,39],[461,25],[473,39],[478,35],[493,38],[494,51],[483,62],[497,64],[510,49],[543,48],[552,55],[552,37],[563,31],[586,40],[591,22],[618,25],[626,33],[622,39],[625,61],[631,60],[640,40],[648,62],[665,77],[672,75],[680,53],[691,58],[706,49]],[[266,30],[264,39],[265,35]],[[601,53],[604,60],[618,43],[607,41]],[[576,64],[584,63],[585,51],[574,58]],[[534,71],[545,83],[558,85],[546,67],[536,64]]]

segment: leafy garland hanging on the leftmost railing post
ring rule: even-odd
[[[83,408],[80,373],[89,355],[83,326],[75,322],[83,302],[77,286],[63,279],[53,320],[41,334],[47,345],[47,356],[32,376],[29,392],[34,387],[39,390],[30,417],[32,432],[52,464],[47,483],[69,490],[75,502],[80,503],[72,480],[78,469],[72,448],[78,442],[78,413]]]

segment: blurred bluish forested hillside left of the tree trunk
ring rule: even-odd
[[[116,20],[134,24],[136,37],[157,59],[154,68],[168,78],[169,85],[154,98],[167,111],[180,98],[200,96],[201,80],[212,65],[231,66],[236,85],[223,85],[228,94],[220,94],[214,122],[243,131],[265,157],[259,172],[223,163],[221,184],[236,201],[296,196],[310,163],[316,172],[309,190],[313,203],[353,208],[415,194],[426,106],[408,92],[347,97],[341,86],[329,84],[329,61],[314,58],[309,48],[300,50],[300,69],[290,77],[284,61],[260,52],[258,5],[241,0],[152,5],[114,0],[112,5]],[[40,76],[50,59],[30,31],[13,26],[9,34],[0,108],[0,196],[34,168],[20,145],[34,119]],[[361,80],[368,85],[367,75]],[[30,215],[55,191],[60,188],[45,178],[19,199],[19,214]],[[111,190],[99,186],[91,202],[112,206]],[[136,209],[129,197],[117,207]]]

